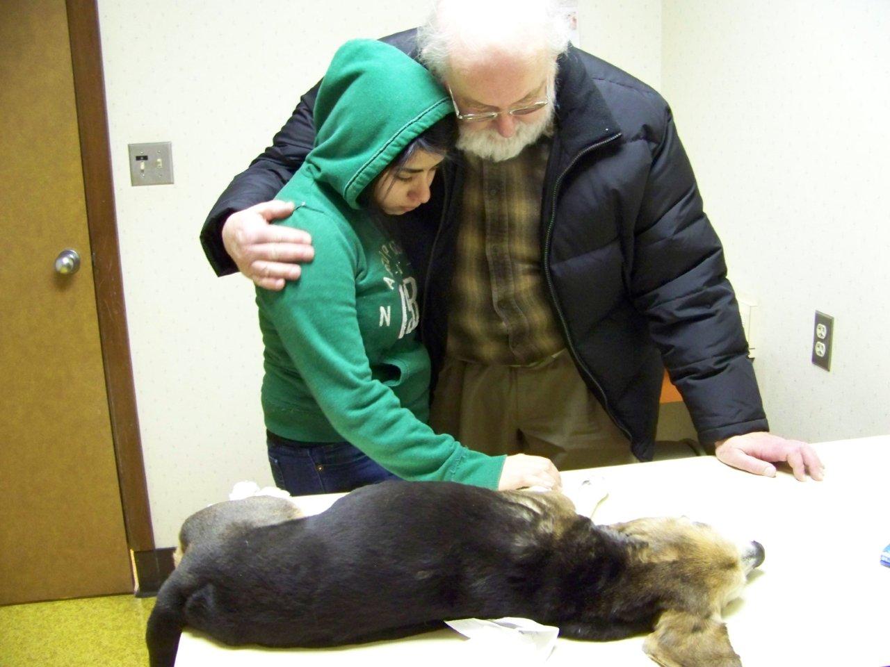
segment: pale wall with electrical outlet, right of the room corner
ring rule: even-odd
[[[890,3],[665,0],[662,92],[730,276],[759,301],[771,428],[890,431]],[[813,312],[836,318],[831,372]]]

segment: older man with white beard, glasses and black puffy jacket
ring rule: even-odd
[[[570,46],[567,18],[561,0],[439,0],[425,26],[384,38],[441,79],[459,119],[461,154],[400,223],[424,277],[433,427],[562,469],[650,459],[663,363],[721,461],[821,479],[812,447],[766,432],[667,103]],[[218,273],[280,289],[312,260],[311,239],[268,224],[292,205],[263,199],[312,147],[316,91],[208,217]]]

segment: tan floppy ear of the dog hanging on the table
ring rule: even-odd
[[[726,625],[688,612],[664,612],[643,650],[662,667],[741,667]]]

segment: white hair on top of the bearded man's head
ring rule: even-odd
[[[456,56],[463,62],[492,54],[553,63],[569,47],[573,0],[434,0],[433,12],[417,31],[420,60],[447,78]]]

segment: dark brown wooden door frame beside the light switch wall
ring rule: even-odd
[[[65,4],[111,438],[135,593],[148,596],[158,591],[173,559],[172,550],[155,549],[151,526],[117,241],[99,9],[97,0]]]

